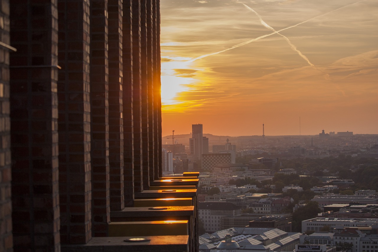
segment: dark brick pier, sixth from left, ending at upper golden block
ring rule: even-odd
[[[134,137],[133,137],[133,38],[132,0],[123,0],[122,59],[123,59],[123,131],[124,131],[124,183],[125,206],[134,199]]]

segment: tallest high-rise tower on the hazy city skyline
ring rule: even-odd
[[[209,138],[202,134],[202,124],[192,124],[192,138],[189,138],[190,154],[201,160],[203,153],[209,152]]]

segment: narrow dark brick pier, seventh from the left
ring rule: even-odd
[[[141,3],[132,3],[133,41],[133,141],[134,141],[134,192],[143,191],[142,172],[142,79],[141,79]]]

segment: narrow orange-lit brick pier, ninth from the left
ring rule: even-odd
[[[147,47],[147,55],[150,57],[150,61],[147,63],[147,68],[149,69],[149,79],[147,82],[147,96],[148,96],[148,140],[149,140],[149,180],[153,181],[155,179],[155,97],[153,95],[153,86],[156,80],[155,71],[155,52],[156,52],[156,0],[147,0],[147,19],[151,19],[147,23],[147,37],[150,37],[149,43],[151,44]]]

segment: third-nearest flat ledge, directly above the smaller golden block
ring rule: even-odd
[[[157,199],[157,198],[195,198],[197,189],[172,189],[172,190],[144,190],[135,193],[135,199]]]

